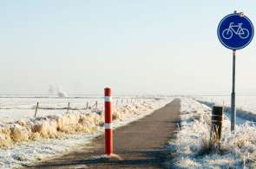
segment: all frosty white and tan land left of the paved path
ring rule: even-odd
[[[0,168],[26,166],[74,150],[104,129],[102,97],[1,98],[0,101],[0,118],[3,119],[0,127]],[[36,101],[40,108],[34,118]],[[114,98],[114,127],[151,114],[169,101],[172,98]]]

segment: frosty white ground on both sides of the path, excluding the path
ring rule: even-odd
[[[256,127],[237,117],[230,133],[230,115],[224,114],[221,153],[207,151],[211,107],[199,101],[229,106],[229,97],[180,97],[181,126],[167,149],[176,168],[256,166]],[[237,97],[237,107],[256,114],[253,96]],[[172,97],[114,98],[114,127],[127,125],[172,101]],[[75,150],[102,134],[103,98],[1,98],[0,168],[15,168]],[[34,118],[36,102],[39,102]],[[97,101],[97,108],[95,102]],[[69,112],[67,110],[70,103]],[[87,108],[86,108],[87,107]],[[243,114],[246,112],[241,112]]]

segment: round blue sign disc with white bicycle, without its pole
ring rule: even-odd
[[[225,16],[218,26],[220,42],[228,49],[245,48],[253,40],[253,34],[253,23],[239,13]]]

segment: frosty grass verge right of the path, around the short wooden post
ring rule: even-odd
[[[236,132],[230,132],[225,114],[220,151],[209,151],[211,108],[191,98],[181,98],[181,127],[168,149],[172,168],[242,168],[256,166],[256,127],[239,120]],[[214,151],[215,150],[215,151]]]

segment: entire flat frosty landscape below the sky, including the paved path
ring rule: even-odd
[[[228,111],[225,111],[223,116],[221,153],[208,152],[211,106],[220,105],[221,101],[226,98],[228,97],[116,97],[112,101],[113,127],[116,130],[114,142],[115,153],[121,158],[121,161],[114,159],[112,162],[109,159],[98,159],[104,154],[102,97],[2,98],[2,105],[5,101],[5,107],[3,106],[1,109],[1,116],[6,118],[6,122],[3,121],[1,124],[0,167],[90,166],[102,168],[107,165],[118,168],[120,165],[130,165],[143,168],[146,164],[149,165],[146,165],[147,167],[153,168],[253,167],[256,158],[254,154],[254,150],[256,150],[254,121],[238,117],[236,133],[230,133],[230,112]],[[242,101],[249,102],[253,98],[252,96],[243,96]],[[178,100],[181,104],[179,109],[174,112],[171,109],[165,110],[165,107]],[[37,110],[38,117],[34,117],[35,102],[37,101],[41,103],[41,107],[47,108],[39,108]],[[94,106],[96,101],[97,107]],[[69,112],[67,110],[68,102]],[[253,101],[251,102],[253,103]],[[238,101],[238,103],[240,102]],[[11,114],[3,114],[4,110]],[[27,110],[30,111],[30,115],[24,114]],[[249,110],[246,109],[240,114],[248,114]],[[163,114],[162,111],[167,116],[159,116]],[[175,120],[172,120],[173,114],[177,114]],[[252,114],[254,113],[252,112]],[[152,118],[149,120],[147,119],[149,117]],[[158,118],[159,120],[157,120]],[[87,122],[79,122],[82,119]],[[60,121],[65,127],[60,126]],[[152,124],[152,127],[147,127],[150,123],[157,125],[157,121],[162,125],[154,127]],[[161,121],[167,123],[161,123]],[[144,132],[143,125],[146,125]],[[168,125],[172,125],[172,129],[166,130],[165,139],[161,138],[163,136],[161,133],[164,131],[161,127],[165,128]],[[40,129],[35,131],[35,127]],[[161,132],[158,132],[158,129]],[[138,133],[137,130],[141,130],[141,133]],[[129,136],[129,134],[131,135]],[[141,137],[143,134],[145,136]],[[148,138],[151,136],[155,141],[153,138]],[[129,141],[128,138],[132,141]],[[122,139],[124,140],[122,141]],[[156,140],[161,142],[157,143]],[[151,143],[152,146],[150,146]],[[91,148],[94,146],[96,149]],[[125,148],[126,146],[127,148]],[[147,158],[153,159],[147,159],[142,154],[131,152],[133,148],[137,150],[141,148],[142,152],[153,151],[153,147],[156,148],[155,152],[151,154],[152,156],[147,156]],[[85,157],[86,159],[84,159]],[[139,159],[141,162],[135,162]],[[98,161],[99,165],[97,165],[97,160],[100,160]],[[148,162],[146,162],[147,160]]]

